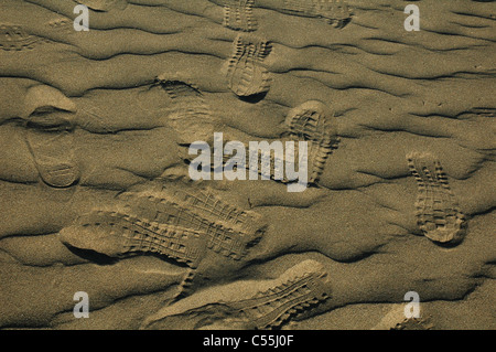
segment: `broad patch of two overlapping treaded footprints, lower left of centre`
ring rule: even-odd
[[[240,260],[263,228],[260,215],[208,190],[157,183],[121,194],[109,210],[79,216],[61,239],[112,257],[158,253],[195,267],[206,249]]]

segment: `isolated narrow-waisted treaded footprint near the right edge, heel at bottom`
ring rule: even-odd
[[[418,152],[408,154],[407,160],[418,184],[416,207],[420,228],[434,242],[460,242],[465,234],[465,218],[440,161],[433,154]]]

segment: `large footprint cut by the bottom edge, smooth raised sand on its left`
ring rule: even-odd
[[[273,329],[330,297],[328,277],[315,260],[273,280],[237,281],[195,294],[149,317],[143,329]]]

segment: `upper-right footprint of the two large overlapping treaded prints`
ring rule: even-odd
[[[161,224],[191,228],[205,235],[208,249],[239,260],[265,231],[261,216],[237,209],[212,192],[168,185],[120,196],[125,212]]]

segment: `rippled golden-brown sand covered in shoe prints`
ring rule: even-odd
[[[496,4],[408,3],[0,0],[0,327],[495,329]],[[191,181],[214,132],[311,185]]]

